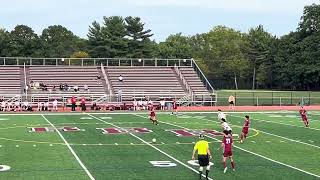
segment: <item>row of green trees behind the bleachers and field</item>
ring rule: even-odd
[[[304,8],[295,31],[276,37],[262,25],[240,32],[215,26],[206,33],[172,34],[163,42],[139,17],[103,17],[87,39],[60,25],[37,35],[26,25],[0,29],[2,57],[194,58],[217,89],[320,89],[320,5]]]

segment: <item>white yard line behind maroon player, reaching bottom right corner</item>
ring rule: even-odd
[[[139,115],[136,115],[136,116],[139,116]],[[142,116],[139,116],[139,117],[142,117]],[[143,117],[143,118],[145,118],[145,117]],[[210,121],[211,121],[211,120],[210,120]],[[161,123],[168,124],[168,125],[175,126],[175,127],[179,127],[179,128],[182,128],[182,129],[188,129],[188,128],[186,128],[186,127],[179,126],[179,125],[175,125],[175,124],[171,124],[171,123],[168,123],[168,122],[163,122],[163,121],[161,121]],[[216,139],[216,138],[213,138],[213,137],[210,137],[210,136],[207,136],[207,137],[210,138],[210,139],[219,140],[219,139]],[[245,151],[245,152],[247,152],[247,153],[253,154],[253,155],[258,156],[258,157],[261,157],[261,158],[263,158],[263,159],[266,159],[266,160],[272,161],[272,162],[274,162],[274,163],[277,163],[277,164],[280,164],[280,165],[283,165],[283,166],[286,166],[286,167],[295,169],[295,170],[297,170],[297,171],[303,172],[303,173],[305,173],[305,174],[309,174],[309,175],[311,175],[311,176],[315,176],[315,177],[320,178],[320,175],[313,174],[313,173],[310,173],[310,172],[308,172],[308,171],[299,169],[299,168],[297,168],[297,167],[294,167],[294,166],[291,166],[291,165],[288,165],[288,164],[285,164],[285,163],[282,163],[282,162],[279,162],[279,161],[270,159],[270,158],[265,157],[265,156],[262,156],[262,155],[260,155],[260,154],[257,154],[257,153],[248,151],[248,150],[246,150],[246,149],[243,149],[243,148],[241,148],[241,147],[239,147],[239,146],[236,146],[236,145],[233,145],[233,146],[234,146],[235,148],[237,148],[237,149],[240,149],[240,150]]]

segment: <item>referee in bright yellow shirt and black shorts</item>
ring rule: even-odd
[[[199,177],[201,179],[202,177],[202,171],[203,168],[206,167],[206,179],[208,179],[208,174],[210,171],[210,164],[209,164],[209,159],[211,159],[211,153],[209,149],[209,143],[208,141],[204,140],[204,135],[200,134],[199,135],[199,141],[196,143],[196,145],[193,148],[192,152],[192,160],[194,160],[194,155],[196,151],[198,151],[198,161],[199,161]]]

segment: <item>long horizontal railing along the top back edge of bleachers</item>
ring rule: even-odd
[[[185,66],[192,59],[0,57],[0,66]]]

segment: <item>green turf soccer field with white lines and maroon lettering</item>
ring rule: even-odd
[[[234,134],[246,114],[227,113]],[[211,179],[320,179],[320,112],[309,112],[310,129],[297,112],[248,114],[252,129],[244,144],[235,141],[235,172],[223,173],[219,133],[207,135]],[[147,113],[2,114],[0,179],[198,179],[191,132],[220,131],[217,115],[159,112],[158,119],[155,126]]]

